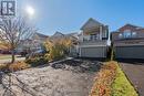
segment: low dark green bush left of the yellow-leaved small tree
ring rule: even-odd
[[[25,63],[30,64],[31,66],[39,66],[47,64],[49,60],[47,57],[34,57],[25,60]]]

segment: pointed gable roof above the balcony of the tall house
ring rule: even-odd
[[[90,29],[90,28],[93,28],[93,26],[100,26],[100,25],[103,25],[102,23],[100,23],[99,21],[90,18],[86,23],[84,23],[84,25],[81,28],[81,30],[84,30],[84,29]]]

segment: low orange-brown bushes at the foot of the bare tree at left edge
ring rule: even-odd
[[[4,72],[6,71],[16,72],[16,71],[25,70],[29,67],[30,65],[24,62],[16,62],[13,64],[0,64],[0,70]]]

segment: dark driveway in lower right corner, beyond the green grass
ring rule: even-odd
[[[144,63],[120,63],[131,83],[144,96]]]

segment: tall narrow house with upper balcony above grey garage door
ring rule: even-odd
[[[81,28],[79,35],[80,57],[97,57],[105,58],[107,53],[109,26],[100,23],[94,19],[89,21]]]

